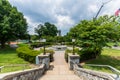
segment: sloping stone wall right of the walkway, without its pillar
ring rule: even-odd
[[[74,72],[83,80],[115,80],[112,74],[79,68],[77,65],[74,65]]]

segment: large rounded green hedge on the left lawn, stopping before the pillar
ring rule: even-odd
[[[39,53],[39,51],[31,50],[29,47],[19,47],[17,48],[18,56],[23,58],[26,61],[31,63],[35,63],[35,58]]]

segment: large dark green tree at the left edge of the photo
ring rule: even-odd
[[[23,14],[16,7],[10,5],[7,0],[0,1],[0,43],[23,38],[27,34],[27,23]]]

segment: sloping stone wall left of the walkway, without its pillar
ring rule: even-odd
[[[0,74],[0,80],[38,80],[45,71],[45,64],[25,71]]]

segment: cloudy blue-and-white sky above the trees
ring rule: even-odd
[[[29,33],[40,23],[55,24],[66,34],[83,19],[92,19],[100,6],[109,0],[9,0],[27,19]],[[102,8],[100,15],[114,15],[120,8],[120,0],[111,0]]]

